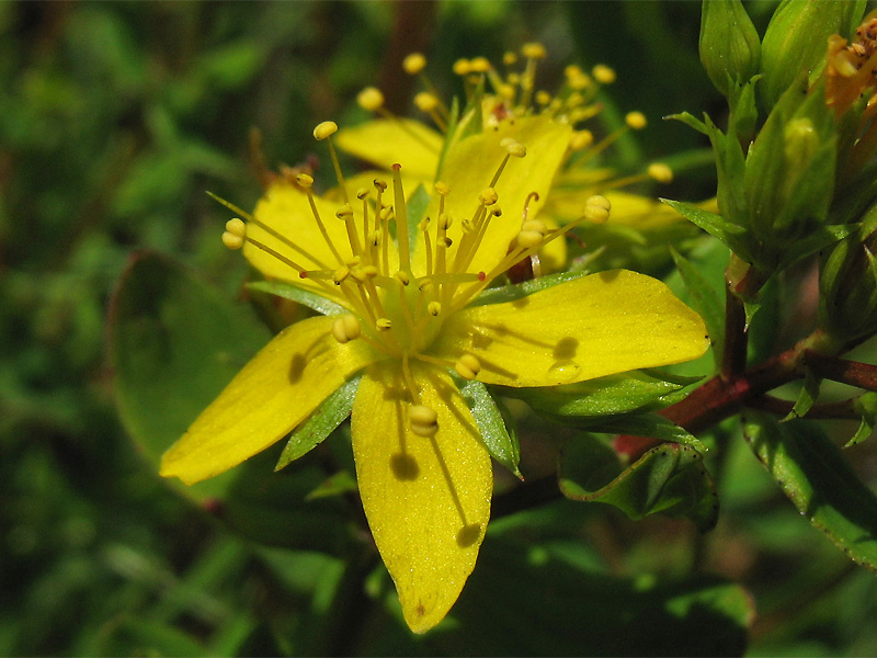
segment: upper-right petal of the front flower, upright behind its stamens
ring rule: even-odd
[[[463,219],[469,219],[478,208],[478,194],[487,188],[497,172],[506,150],[500,141],[506,137],[516,139],[526,149],[523,158],[511,158],[496,185],[499,194],[497,205],[502,216],[490,220],[478,252],[472,259],[470,272],[490,271],[505,256],[512,239],[521,230],[524,204],[531,192],[539,195],[529,204],[528,217],[534,218],[542,207],[551,185],[555,172],[567,151],[571,128],[556,123],[547,116],[506,120],[496,128],[454,144],[445,156],[440,180],[451,188],[445,200],[445,212],[454,218],[448,237],[454,245],[448,258],[456,252],[463,235]],[[437,195],[436,195],[437,196]],[[428,215],[437,217],[438,202],[433,198]],[[430,230],[435,245],[435,222]],[[415,253],[415,272],[423,271],[423,250]]]

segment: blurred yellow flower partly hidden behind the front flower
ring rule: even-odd
[[[624,133],[642,129],[647,123],[642,113],[630,112],[620,128],[599,141],[595,141],[591,131],[583,127],[602,112],[603,105],[597,100],[597,93],[602,87],[615,81],[615,71],[605,65],[597,65],[589,75],[580,67],[570,65],[563,71],[565,81],[560,89],[551,94],[535,88],[536,63],[545,58],[545,48],[536,43],[524,44],[521,55],[521,71],[510,68],[517,64],[517,56],[513,53],[506,53],[503,59],[504,72],[483,57],[460,59],[455,64],[454,71],[464,78],[467,92],[467,109],[462,111],[456,123],[453,113],[423,73],[425,58],[419,53],[410,55],[403,68],[411,75],[418,75],[426,88],[426,91],[415,95],[414,105],[430,115],[438,131],[392,115],[384,107],[380,92],[369,87],[360,94],[360,104],[369,112],[378,113],[381,118],[341,131],[338,135],[339,148],[384,171],[400,162],[408,177],[406,183],[409,190],[413,190],[417,181],[431,183],[436,177],[441,178],[441,155],[446,140],[453,144],[459,135],[470,132],[493,129],[500,124],[526,116],[546,116],[570,128],[561,166],[557,168],[542,212],[542,220],[548,227],[556,228],[580,217],[585,201],[593,194],[610,198],[614,209],[613,224],[626,227],[628,231],[657,229],[683,222],[679,213],[657,200],[617,192],[646,180],[670,182],[673,173],[667,164],[652,163],[642,173],[625,178],[616,177],[611,169],[595,167],[599,156]],[[417,67],[408,66],[409,61],[417,63]],[[567,260],[566,242],[555,240],[546,245],[538,257],[543,272],[561,269]]]

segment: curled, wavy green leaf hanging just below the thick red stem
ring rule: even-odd
[[[660,512],[688,518],[706,532],[718,519],[716,486],[690,445],[661,444],[622,468],[606,443],[582,434],[561,451],[558,483],[565,497],[612,504],[633,520]]]

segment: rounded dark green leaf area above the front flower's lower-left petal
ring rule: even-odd
[[[119,416],[156,469],[163,452],[271,339],[249,308],[150,252],[122,274],[109,324]],[[221,476],[184,490],[202,497],[227,485]]]

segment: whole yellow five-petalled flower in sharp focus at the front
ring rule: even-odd
[[[337,201],[314,194],[307,174],[275,180],[246,224],[227,224],[224,241],[265,276],[341,310],[274,338],[164,454],[161,474],[195,483],[231,468],[361,373],[351,433],[363,507],[409,626],[438,623],[475,566],[492,492],[491,460],[456,382],[553,386],[686,361],[707,347],[694,311],[628,271],[479,303],[509,266],[560,235],[536,214],[569,132],[536,116],[458,140],[422,220],[410,216],[398,166],[391,184],[355,192],[337,168]],[[581,220],[607,214],[594,197]]]

